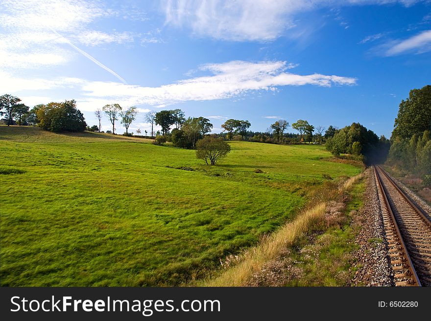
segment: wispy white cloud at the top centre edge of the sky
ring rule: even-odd
[[[168,0],[166,24],[186,26],[198,36],[232,41],[271,41],[296,26],[295,15],[321,7],[402,3],[421,0]]]

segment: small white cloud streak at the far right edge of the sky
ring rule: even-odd
[[[398,40],[386,50],[386,56],[396,56],[408,52],[424,53],[431,51],[431,30],[425,30],[406,40]]]

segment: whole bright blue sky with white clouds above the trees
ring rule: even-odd
[[[119,103],[139,108],[135,132],[146,111],[180,108],[213,132],[283,118],[389,137],[430,80],[430,0],[0,2],[0,94],[75,99],[90,126]]]

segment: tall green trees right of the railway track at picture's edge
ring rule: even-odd
[[[388,163],[418,175],[431,174],[431,86],[412,89],[400,103]]]

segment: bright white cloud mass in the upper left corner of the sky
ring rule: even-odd
[[[120,11],[108,9],[96,0],[2,0],[0,55],[7,58],[4,66],[40,68],[66,64],[76,56],[62,46],[71,44],[66,38],[90,46],[132,42],[135,35],[130,32],[109,34],[89,28],[98,19],[118,17]],[[73,49],[84,54],[82,49]],[[25,56],[29,57],[26,61]]]

